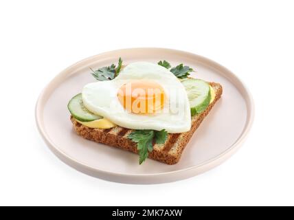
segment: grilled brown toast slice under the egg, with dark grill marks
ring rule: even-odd
[[[177,164],[177,162],[179,162],[183,149],[188,144],[193,133],[223,93],[223,88],[220,84],[210,83],[210,85],[216,93],[214,101],[210,103],[207,109],[205,109],[205,111],[201,114],[194,115],[192,117],[192,126],[190,131],[185,133],[169,133],[164,144],[155,144],[153,146],[153,151],[149,153],[149,158],[156,159],[166,164]],[[116,146],[133,153],[138,153],[137,144],[128,139],[128,135],[133,131],[131,129],[126,129],[121,126],[115,126],[112,129],[91,129],[77,122],[72,116],[71,122],[74,125],[76,133],[88,140],[109,146]]]

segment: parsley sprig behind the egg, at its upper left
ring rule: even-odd
[[[122,68],[122,58],[118,60],[117,68],[115,68],[114,64],[111,64],[110,67],[101,67],[97,70],[92,71],[92,76],[95,77],[96,80],[104,81],[104,80],[113,80],[118,73],[120,72],[120,69]]]

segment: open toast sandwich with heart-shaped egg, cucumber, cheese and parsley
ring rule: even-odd
[[[91,69],[91,68],[90,68]],[[177,164],[185,146],[223,88],[191,78],[189,66],[168,61],[91,69],[97,80],[84,85],[67,107],[76,133],[165,164]]]

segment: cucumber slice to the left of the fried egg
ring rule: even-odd
[[[91,113],[88,109],[86,109],[86,107],[84,107],[82,94],[78,94],[74,96],[74,98],[71,98],[69,104],[67,104],[67,108],[69,109],[71,115],[81,122],[91,122],[93,120],[103,118],[100,115]]]

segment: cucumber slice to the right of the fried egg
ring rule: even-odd
[[[182,80],[190,102],[191,116],[203,112],[210,104],[210,85],[203,80],[187,78]]]

